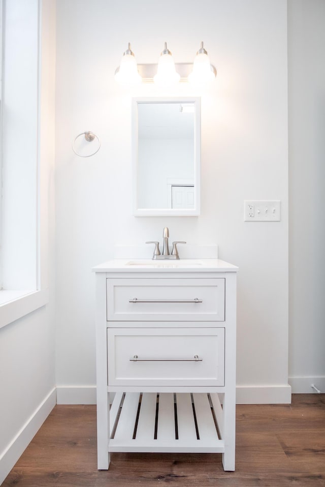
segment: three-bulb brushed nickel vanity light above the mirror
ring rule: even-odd
[[[165,42],[158,64],[138,64],[131,45],[128,44],[121,63],[115,71],[115,80],[124,87],[143,82],[154,82],[160,87],[171,87],[179,81],[189,81],[195,86],[206,86],[217,76],[216,68],[210,64],[203,42],[193,63],[174,63],[172,53]]]

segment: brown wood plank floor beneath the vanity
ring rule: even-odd
[[[219,454],[111,455],[96,468],[95,406],[56,406],[3,486],[325,486],[325,395],[291,405],[237,406],[236,471]]]

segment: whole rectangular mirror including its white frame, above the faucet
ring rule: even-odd
[[[134,215],[200,215],[200,98],[134,98],[132,132]]]

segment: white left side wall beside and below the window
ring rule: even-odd
[[[49,303],[25,317],[0,329],[0,484],[19,456],[42,425],[56,400],[54,370],[54,59],[55,59],[55,4],[51,0],[11,0],[11,12],[34,17],[29,25],[36,42],[33,45],[35,79],[39,80],[40,105],[33,107],[30,118],[39,124],[35,134],[34,164],[39,165],[41,192],[38,198],[40,213],[38,250],[41,266],[37,269],[41,288],[49,289]],[[41,38],[38,33],[39,14],[42,19]],[[25,21],[27,22],[26,15]],[[40,50],[39,50],[40,41]],[[38,59],[40,56],[40,71]],[[20,83],[24,79],[20,78]],[[19,144],[19,134],[17,134]],[[29,154],[30,156],[30,154]],[[18,176],[16,175],[16,178]],[[34,186],[35,187],[35,186]],[[23,202],[21,203],[24,204]],[[36,215],[34,211],[34,219]],[[34,238],[36,229],[34,229]],[[19,246],[24,245],[21,233]],[[34,261],[35,265],[35,261]],[[19,303],[17,303],[19,307]]]

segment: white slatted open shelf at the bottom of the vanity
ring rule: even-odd
[[[116,393],[108,450],[223,453],[221,414],[217,394]]]

